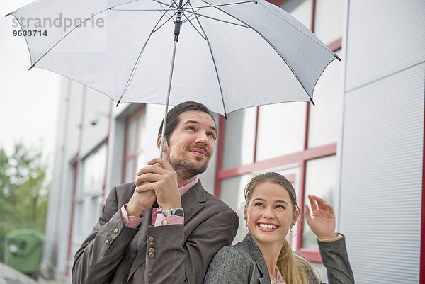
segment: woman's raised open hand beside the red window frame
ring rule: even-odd
[[[308,198],[312,207],[312,216],[310,215],[310,208],[305,205],[305,219],[317,239],[332,239],[336,237],[334,208],[315,195],[308,195]]]

